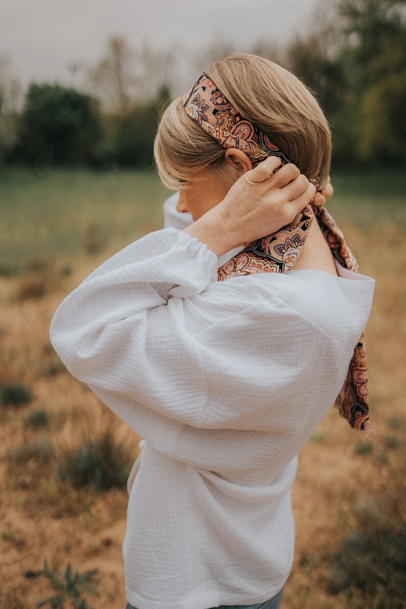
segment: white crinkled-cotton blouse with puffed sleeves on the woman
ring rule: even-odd
[[[374,280],[339,264],[338,277],[224,282],[218,266],[167,227],[104,262],[52,320],[68,370],[146,440],[123,544],[138,609],[251,605],[281,590],[297,455],[371,309]]]

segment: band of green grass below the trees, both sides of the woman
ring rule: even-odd
[[[401,172],[332,173],[329,209],[338,224],[366,231],[379,222],[406,225]],[[52,169],[0,170],[0,273],[21,272],[33,262],[67,265],[79,256],[114,252],[161,228],[170,194],[155,171],[93,172]]]

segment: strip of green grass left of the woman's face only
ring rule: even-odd
[[[153,171],[92,172],[20,168],[0,171],[0,271],[25,270],[33,261],[66,264],[100,235],[118,250],[162,225],[169,191]]]

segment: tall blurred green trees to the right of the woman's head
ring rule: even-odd
[[[287,67],[320,100],[335,166],[406,162],[405,0],[336,0],[317,34],[296,38]]]

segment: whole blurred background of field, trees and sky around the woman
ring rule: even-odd
[[[331,410],[301,452],[282,608],[406,606],[405,15],[396,0],[2,1],[2,609],[125,605],[125,481],[141,438],[69,375],[49,324],[98,264],[161,228],[159,113],[231,52],[280,63],[320,100],[328,206],[376,278],[373,437]]]

